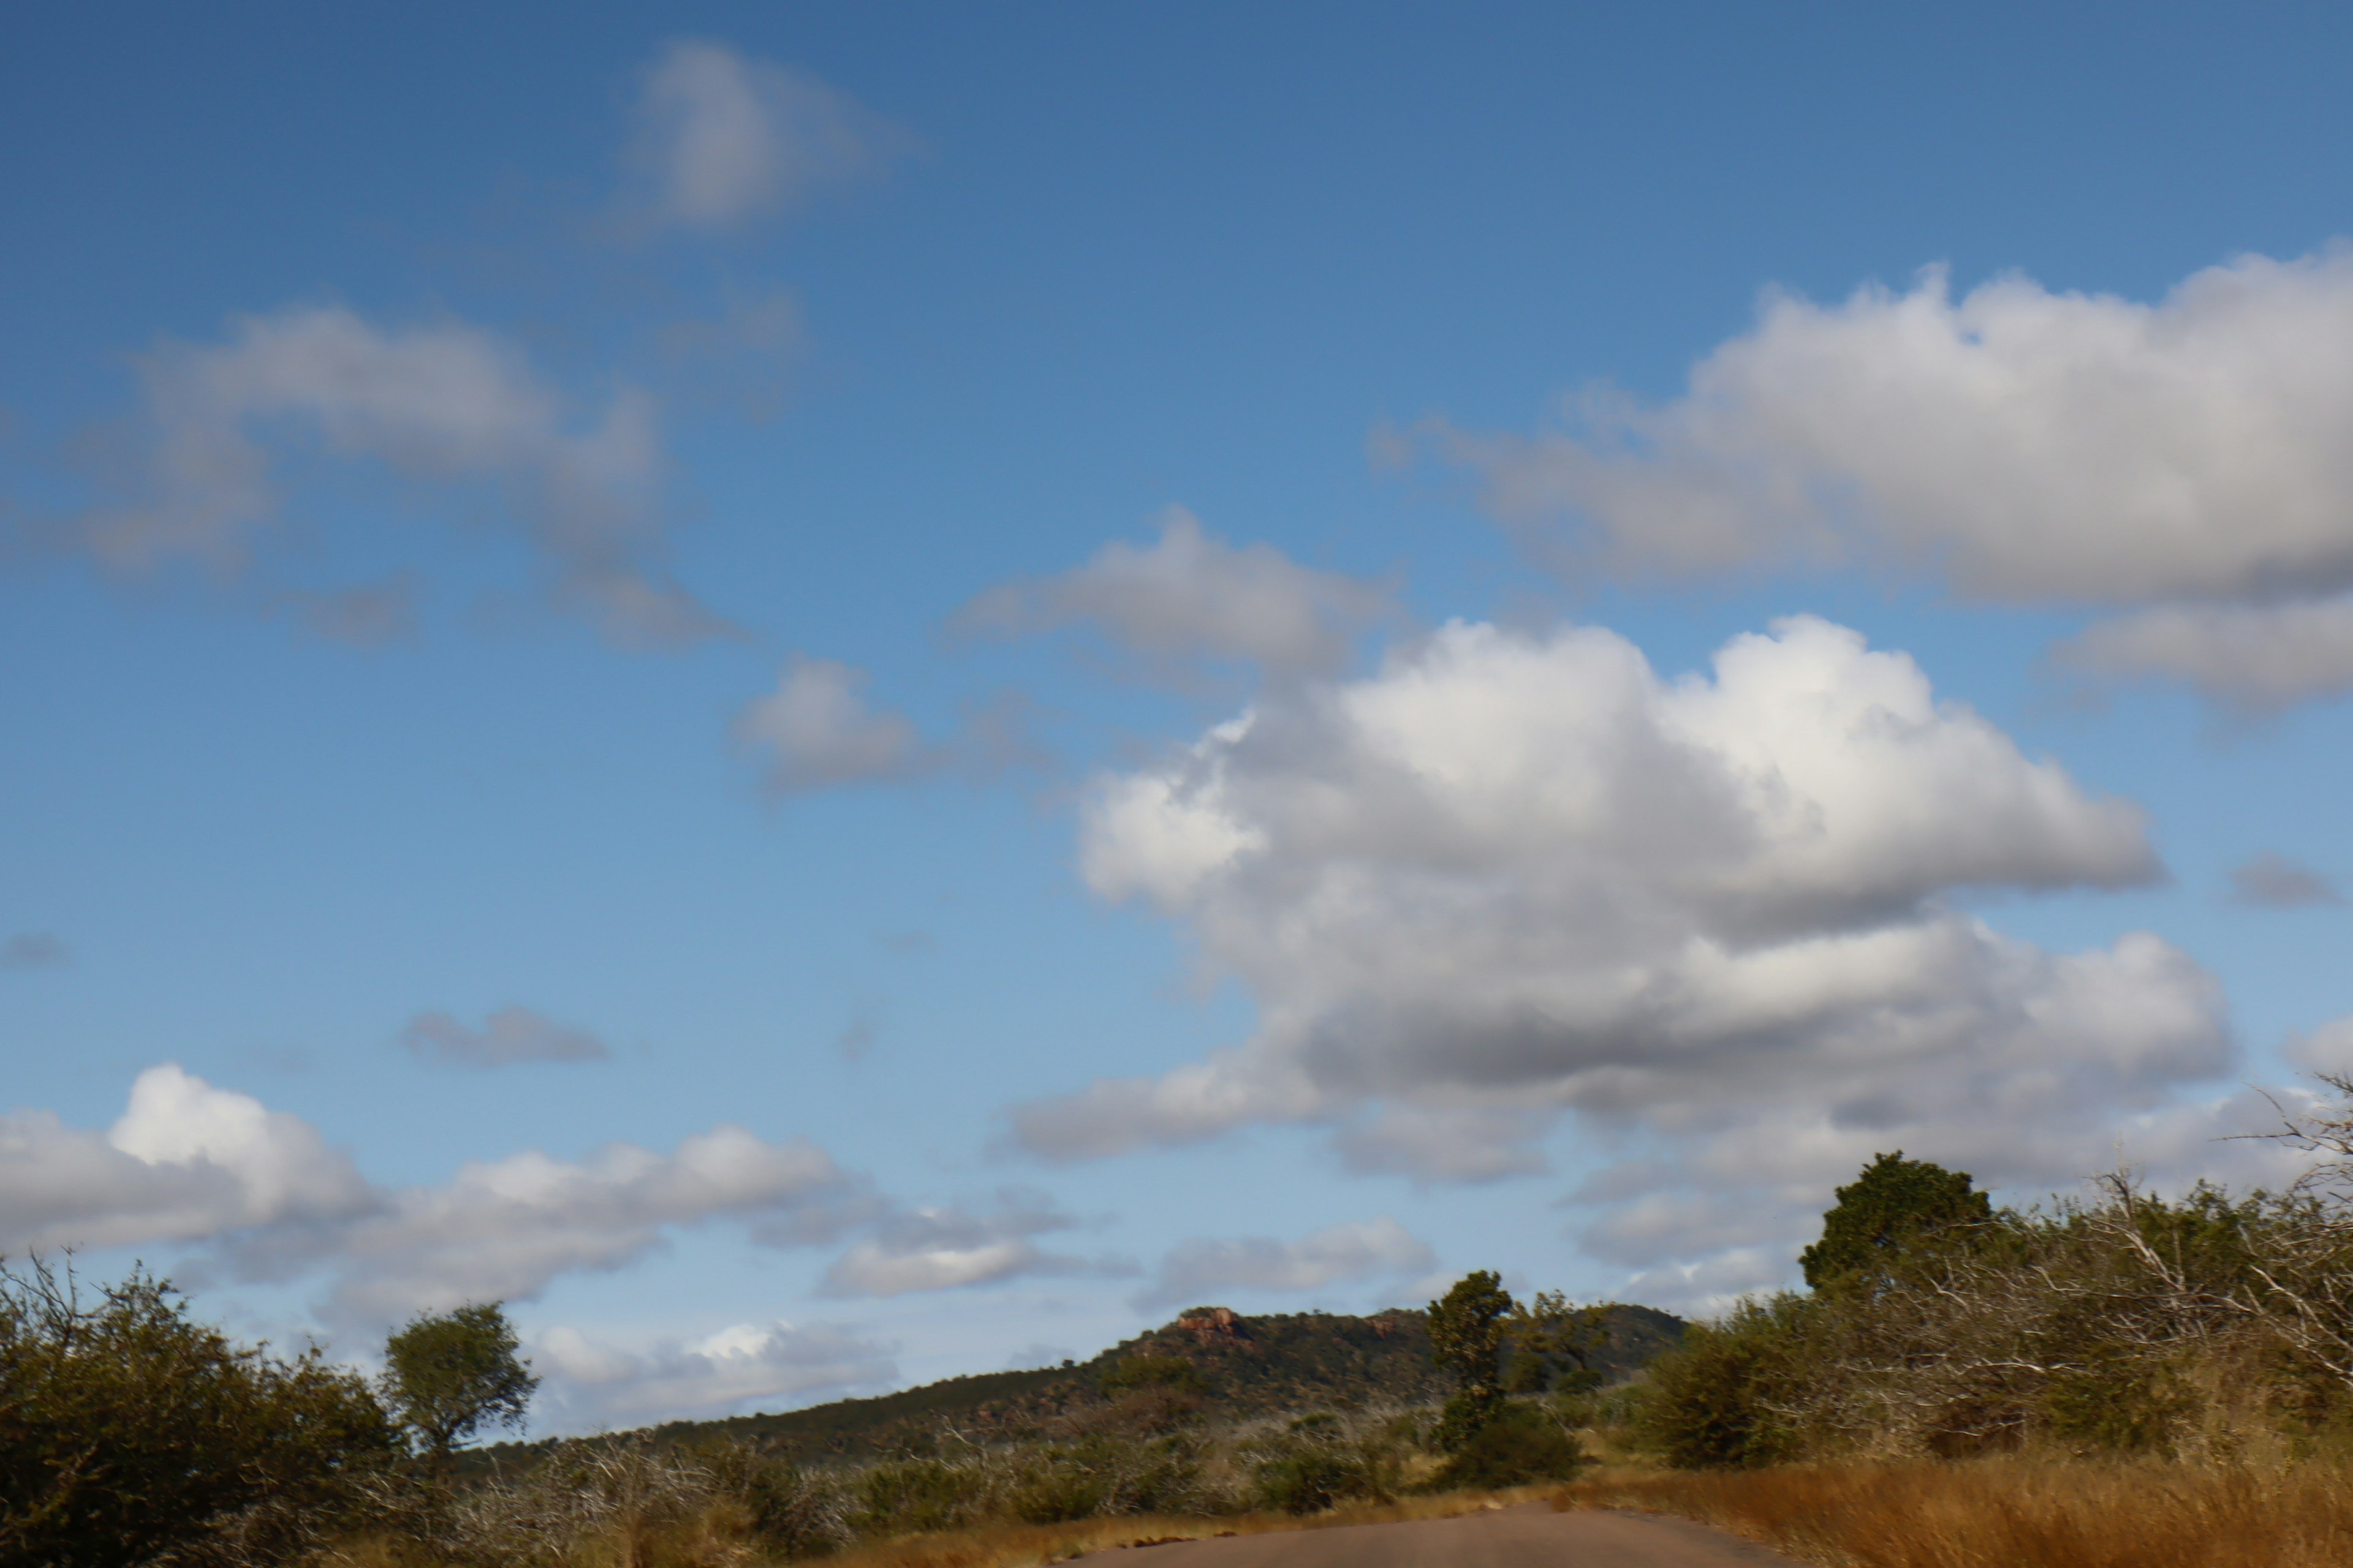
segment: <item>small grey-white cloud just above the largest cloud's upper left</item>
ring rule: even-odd
[[[1113,541],[1061,576],[993,588],[958,625],[998,637],[1087,625],[1151,668],[1214,658],[1308,672],[1337,670],[1365,628],[1395,618],[1386,588],[1301,567],[1273,545],[1228,545],[1172,505],[1153,545]]]

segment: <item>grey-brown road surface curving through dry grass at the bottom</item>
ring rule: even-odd
[[[1096,1568],[1795,1568],[1791,1559],[1680,1519],[1555,1514],[1541,1502],[1329,1530],[1273,1530],[1096,1552]]]

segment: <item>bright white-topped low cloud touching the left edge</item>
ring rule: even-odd
[[[165,1063],[106,1133],[0,1117],[0,1255],[348,1222],[376,1194],[299,1117]]]

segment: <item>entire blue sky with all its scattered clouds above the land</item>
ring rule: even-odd
[[[0,1251],[576,1429],[2278,1175],[2348,33],[24,7]]]

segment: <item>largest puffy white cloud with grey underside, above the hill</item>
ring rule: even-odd
[[[1626,1171],[1675,1150],[1619,1201],[1819,1206],[1897,1145],[2068,1182],[2233,1060],[2165,940],[2045,952],[1955,905],[2151,882],[2141,811],[1814,618],[1682,679],[1598,628],[1447,625],[1099,778],[1080,865],[1184,922],[1259,1025],[1016,1107],[1056,1159],[1322,1121],[1358,1168],[1478,1180],[1579,1112]]]

